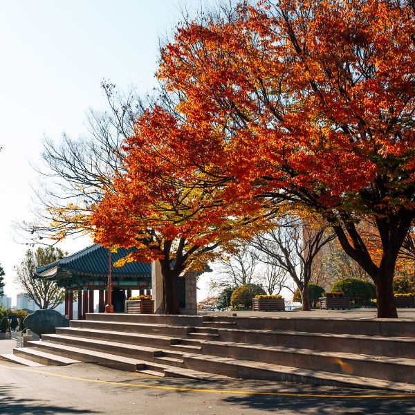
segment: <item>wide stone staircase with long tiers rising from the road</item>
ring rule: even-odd
[[[152,376],[415,392],[414,328],[413,320],[88,314],[14,356]]]

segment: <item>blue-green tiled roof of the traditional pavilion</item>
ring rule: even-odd
[[[127,256],[133,249],[119,248],[117,252],[111,252],[111,263]],[[52,277],[61,270],[68,270],[86,275],[108,275],[108,249],[102,245],[89,246],[73,255],[59,259],[59,261],[46,266],[36,268],[36,275],[39,277]],[[128,262],[122,267],[112,267],[113,275],[151,275],[151,263]]]

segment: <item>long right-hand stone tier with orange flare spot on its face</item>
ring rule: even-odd
[[[203,342],[201,353],[415,384],[414,359],[230,342]]]

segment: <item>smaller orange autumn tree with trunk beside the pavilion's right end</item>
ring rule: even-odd
[[[134,134],[123,151],[124,174],[93,208],[95,241],[104,246],[136,247],[124,261],[159,261],[163,275],[165,313],[178,314],[176,282],[186,270],[203,270],[219,255],[219,247],[232,246],[236,232],[248,234],[249,225],[235,219],[235,211],[203,189],[203,173],[181,164],[183,134],[180,122],[166,111],[149,111],[137,120]],[[203,132],[202,132],[203,133]],[[194,167],[191,167],[194,169]],[[186,182],[187,175],[192,181]],[[246,222],[246,221],[245,221]]]

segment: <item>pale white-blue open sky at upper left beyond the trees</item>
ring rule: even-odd
[[[86,112],[106,109],[102,80],[151,92],[158,39],[172,34],[183,8],[200,3],[216,0],[0,0],[0,264],[12,304],[20,291],[13,266],[28,248],[13,223],[33,219],[44,138],[85,133]],[[73,253],[91,243],[59,247]]]

